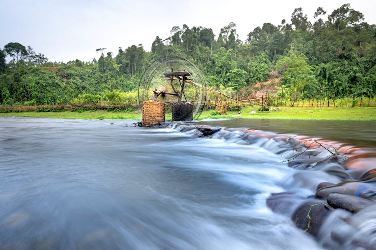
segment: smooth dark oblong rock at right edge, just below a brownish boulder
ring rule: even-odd
[[[342,208],[350,212],[358,212],[376,202],[354,195],[342,193],[330,193],[327,198],[328,204],[334,208]]]

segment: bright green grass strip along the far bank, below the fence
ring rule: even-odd
[[[376,107],[362,108],[309,108],[309,107],[281,107],[277,111],[262,112],[259,107],[248,107],[240,111],[228,111],[227,115],[214,115],[212,110],[204,111],[201,119],[208,118],[245,118],[245,119],[296,119],[296,120],[373,120],[376,121]],[[256,112],[256,113],[255,113]],[[14,112],[0,113],[0,117],[39,117],[66,119],[135,119],[141,120],[141,111],[108,112],[105,110],[85,112]],[[166,119],[171,119],[166,115]]]

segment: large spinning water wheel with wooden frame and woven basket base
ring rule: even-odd
[[[164,121],[164,115],[172,117],[172,120],[191,121],[197,119],[204,108],[205,79],[189,60],[179,56],[165,56],[154,61],[144,72],[138,88],[138,99],[143,110],[143,125],[156,124],[162,121],[161,116]],[[154,121],[154,114],[161,108],[163,114],[157,114]]]

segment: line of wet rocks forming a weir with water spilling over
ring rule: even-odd
[[[271,193],[268,207],[290,216],[295,225],[331,249],[376,249],[376,154],[337,141],[288,136],[253,129],[221,128],[166,122],[156,127],[177,129],[192,137],[222,139],[229,143],[268,145],[283,155],[291,168],[304,169],[293,185],[316,191],[305,196],[291,190]],[[270,146],[273,144],[273,146]],[[334,182],[320,181],[325,173]],[[297,189],[299,190],[299,189]]]

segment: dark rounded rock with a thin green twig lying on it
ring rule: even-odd
[[[317,236],[326,216],[333,210],[322,200],[311,199],[298,206],[291,218],[295,225],[313,236]]]

